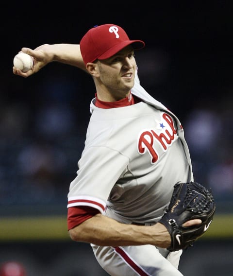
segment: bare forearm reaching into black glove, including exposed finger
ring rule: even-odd
[[[199,223],[200,220],[190,222],[191,225]],[[157,223],[152,226],[122,224],[100,213],[70,229],[69,235],[73,241],[100,246],[152,244],[166,248],[171,243],[170,234],[163,224]]]

